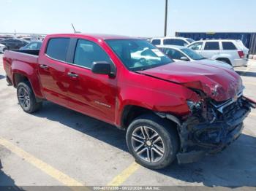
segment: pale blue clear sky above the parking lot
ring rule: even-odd
[[[0,0],[0,32],[163,36],[165,0]],[[169,0],[167,34],[256,32],[255,0]]]

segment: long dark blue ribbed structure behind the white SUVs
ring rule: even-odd
[[[176,32],[176,36],[194,39],[240,39],[249,48],[249,54],[256,55],[256,33],[197,33],[197,32]]]

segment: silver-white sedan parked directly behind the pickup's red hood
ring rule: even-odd
[[[194,50],[191,50],[187,47],[170,46],[170,45],[158,46],[158,47],[160,50],[162,50],[162,52],[165,52],[165,55],[167,55],[169,58],[173,59],[174,61],[190,61],[190,62],[209,64],[209,65],[222,66],[227,69],[233,69],[233,67],[230,66],[230,64],[204,58],[202,55],[198,54]]]

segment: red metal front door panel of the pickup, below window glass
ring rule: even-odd
[[[113,123],[116,108],[116,79],[108,75],[94,74],[90,69],[74,65],[69,66],[69,72],[77,75],[77,77],[70,76],[69,107]]]

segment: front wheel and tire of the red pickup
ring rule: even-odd
[[[178,133],[175,127],[153,114],[135,119],[127,129],[126,139],[129,152],[146,168],[165,168],[176,159]]]

